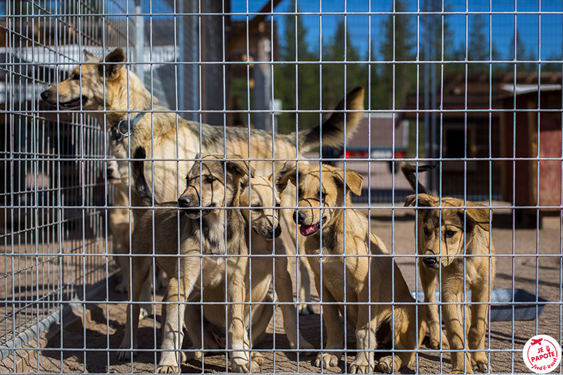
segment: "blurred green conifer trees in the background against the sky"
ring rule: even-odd
[[[424,1],[423,10],[440,10],[441,3],[441,0]],[[299,13],[295,0],[289,9]],[[345,17],[342,16],[334,36],[321,46],[322,59],[319,46],[308,42],[303,17],[299,14],[282,16],[284,32],[278,37],[279,60],[288,63],[274,66],[274,97],[282,100],[284,110],[318,111],[320,108],[333,108],[344,96],[345,87],[350,90],[362,85],[370,89],[371,109],[401,109],[408,94],[416,94],[417,88],[419,94],[423,93],[425,82],[428,84],[423,77],[431,74],[431,70],[434,70],[439,84],[442,69],[444,75],[488,73],[490,69],[493,73],[512,72],[513,63],[494,63],[491,66],[489,62],[513,60],[514,53],[517,60],[538,60],[527,51],[518,32],[512,38],[509,56],[501,56],[495,43],[490,49],[487,18],[478,14],[469,19],[468,38],[460,45],[455,45],[451,25],[442,21],[440,14],[420,15],[421,36],[417,43],[416,15],[400,14],[406,10],[404,1],[395,0],[395,12],[399,14],[386,16],[381,25],[382,42],[376,45],[372,40],[366,55],[360,53],[347,32]],[[372,39],[375,38],[372,35]],[[418,60],[436,63],[427,67],[425,64],[417,66],[417,55]],[[518,72],[538,70],[537,63],[516,65]],[[546,70],[561,71],[561,66],[542,66],[542,71]],[[282,133],[294,131],[296,121],[301,129],[316,125],[319,116],[318,112],[283,113],[278,117],[278,130]]]

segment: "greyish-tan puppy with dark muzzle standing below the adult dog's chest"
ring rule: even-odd
[[[144,159],[142,147],[137,148],[135,157]],[[247,161],[237,160],[236,157],[229,155],[227,158],[230,160],[221,161],[218,158],[222,159],[222,156],[205,155],[188,172],[186,190],[177,203],[155,202],[157,209],[143,209],[144,213],[138,215],[139,219],[135,222],[132,244],[135,255],[169,255],[132,259],[135,272],[132,272],[129,298],[133,302],[138,301],[153,259],[169,277],[164,300],[167,303],[162,314],[163,352],[157,372],[179,372],[179,357],[186,357],[183,353],[178,355],[184,338],[181,322],[184,322],[185,302],[193,288],[200,285],[200,277],[204,290],[221,283],[224,285],[226,277],[227,302],[241,302],[227,307],[227,338],[228,348],[232,350],[232,371],[248,372],[251,368],[260,368],[258,363],[251,361],[249,347],[245,346],[249,341],[242,305],[247,293],[247,222],[240,210],[221,208],[239,205],[240,179],[253,174]],[[151,207],[153,198],[142,172],[143,164],[142,160],[134,164],[135,188],[142,205]],[[200,261],[203,261],[203,272],[200,272]],[[136,317],[138,304],[133,304],[132,314],[127,314],[127,328],[120,346],[124,350],[118,353],[120,359],[127,358],[130,350],[137,347]],[[188,326],[188,330],[192,328]],[[133,336],[133,342],[130,341],[130,335]]]

